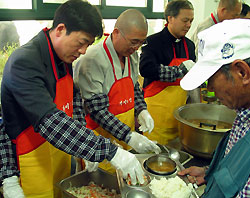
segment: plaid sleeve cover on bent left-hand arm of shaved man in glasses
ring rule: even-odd
[[[108,111],[109,99],[105,94],[96,94],[84,101],[90,117],[118,140],[125,140],[130,127]]]

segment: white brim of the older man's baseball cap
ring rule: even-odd
[[[211,64],[211,62],[210,62]],[[209,79],[221,65],[205,65],[199,61],[190,69],[190,71],[181,79],[180,85],[184,90],[193,90],[199,87],[207,79]]]

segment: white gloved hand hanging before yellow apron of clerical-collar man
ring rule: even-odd
[[[154,128],[154,120],[149,114],[148,110],[142,110],[138,115],[138,122],[141,125],[139,127],[139,130],[142,132],[148,131],[148,133],[151,133],[151,131]]]

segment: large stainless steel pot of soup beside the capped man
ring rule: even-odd
[[[204,158],[212,157],[218,142],[231,128],[218,128],[211,122],[231,125],[235,116],[235,111],[224,105],[205,103],[187,104],[174,111],[182,146],[191,154]],[[191,120],[201,120],[201,123],[197,125]]]

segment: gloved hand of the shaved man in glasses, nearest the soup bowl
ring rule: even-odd
[[[137,132],[131,132],[128,135],[131,136],[130,140],[128,141],[128,145],[135,149],[136,152],[149,153],[153,151],[156,154],[161,152],[160,147],[157,146],[155,142],[149,140],[146,136]]]

